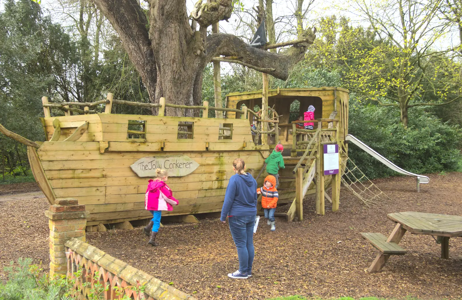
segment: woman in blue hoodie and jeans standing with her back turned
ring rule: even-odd
[[[231,278],[249,278],[252,276],[254,262],[254,226],[257,214],[257,182],[249,173],[244,172],[245,163],[241,158],[234,159],[233,170],[226,188],[225,202],[221,209],[220,220],[225,223],[226,216],[239,258],[239,269],[228,274]]]

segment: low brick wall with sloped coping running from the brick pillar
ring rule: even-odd
[[[77,281],[76,284],[82,284],[85,281],[90,282],[95,272],[98,272],[98,280],[104,285],[109,284],[105,299],[117,299],[116,287],[118,287],[119,291],[123,291],[120,296],[127,294],[135,300],[197,300],[80,239],[68,239],[64,245],[66,246],[67,277],[72,278],[73,273],[81,268],[85,270],[86,279],[82,278],[82,281]],[[137,294],[136,289],[130,288],[130,286],[143,285],[144,294]],[[86,296],[85,288],[82,296]]]

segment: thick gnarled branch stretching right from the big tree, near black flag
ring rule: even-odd
[[[213,57],[218,55],[237,56],[241,58],[242,64],[248,64],[254,69],[266,69],[263,73],[286,80],[289,70],[304,58],[307,47],[315,38],[311,30],[307,30],[303,39],[307,39],[308,42],[298,43],[283,54],[277,54],[251,47],[230,34],[211,34],[207,37],[207,61],[212,61]]]

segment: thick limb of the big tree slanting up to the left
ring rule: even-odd
[[[119,34],[128,57],[148,89],[149,98],[153,100],[157,81],[156,60],[147,30],[148,22],[138,1],[94,1]]]

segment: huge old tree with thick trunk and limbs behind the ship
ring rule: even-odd
[[[255,49],[228,34],[211,34],[207,27],[231,16],[231,0],[196,3],[191,17],[200,25],[189,24],[184,0],[149,0],[149,23],[136,0],[94,0],[114,26],[128,56],[140,73],[153,103],[165,97],[167,103],[202,103],[202,71],[213,57],[237,56],[240,61],[286,80],[315,35],[306,32],[310,42],[292,46],[284,55]],[[197,111],[167,108],[167,116],[193,116]]]

